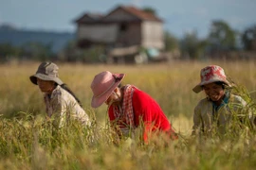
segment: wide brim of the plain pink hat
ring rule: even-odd
[[[113,75],[120,77],[119,81],[116,82],[106,93],[102,94],[101,96],[93,95],[92,101],[91,101],[92,108],[100,107],[108,99],[111,93],[113,93],[113,91],[119,86],[120,82],[125,76],[124,74],[113,74]]]

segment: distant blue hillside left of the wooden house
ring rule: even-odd
[[[13,46],[20,46],[27,42],[50,43],[52,45],[52,51],[56,53],[62,50],[67,42],[74,39],[74,33],[23,30],[11,26],[0,26],[0,43],[9,42]]]

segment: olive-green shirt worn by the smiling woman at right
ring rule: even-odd
[[[223,103],[218,107],[208,97],[200,100],[194,108],[192,135],[201,132],[210,134],[212,129],[222,134],[226,133],[233,113],[241,112],[246,105],[241,96],[231,93],[227,93]]]

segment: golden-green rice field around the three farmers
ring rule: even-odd
[[[255,60],[170,61],[148,65],[86,65],[58,63],[60,78],[81,99],[94,121],[90,129],[73,124],[54,131],[45,122],[43,94],[33,85],[40,63],[0,65],[0,169],[255,169],[255,132],[242,131],[226,140],[192,139],[192,114],[204,93],[193,93],[201,68],[217,64],[240,94],[256,101]],[[128,139],[113,144],[106,106],[90,107],[90,84],[101,71],[124,73],[122,84],[133,84],[159,103],[178,141],[141,144]],[[252,107],[255,107],[252,105]]]

